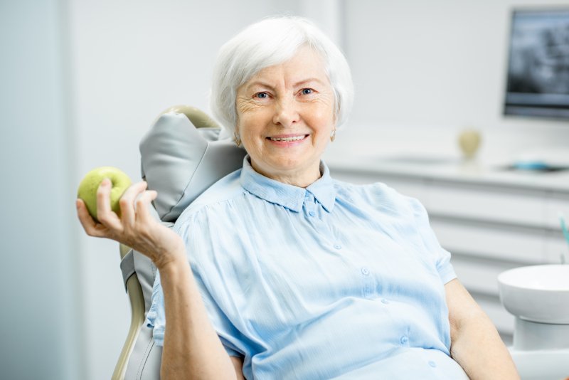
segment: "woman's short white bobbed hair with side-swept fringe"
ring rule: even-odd
[[[290,60],[302,46],[319,53],[334,90],[336,127],[346,122],[353,102],[353,83],[346,58],[317,26],[307,19],[277,16],[245,28],[218,53],[213,66],[211,111],[228,132],[238,123],[238,88],[263,68]]]

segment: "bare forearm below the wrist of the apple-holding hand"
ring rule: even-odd
[[[160,268],[166,332],[162,379],[236,379],[187,261]]]

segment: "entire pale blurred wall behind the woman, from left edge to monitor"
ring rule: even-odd
[[[551,0],[0,1],[3,379],[107,379],[129,326],[116,243],[88,238],[75,191],[94,167],[139,178],[138,143],[171,105],[208,110],[219,46],[253,21],[307,16],[356,86],[340,135],[392,149],[565,149],[568,122],[504,117],[511,9]],[[569,1],[555,1],[569,5]]]

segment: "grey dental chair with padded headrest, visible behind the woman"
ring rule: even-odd
[[[169,108],[154,121],[140,142],[142,179],[158,191],[156,218],[174,222],[204,190],[243,164],[245,150],[237,147],[208,115],[194,107]],[[120,246],[122,278],[132,317],[113,380],[160,378],[162,348],[154,344],[144,323],[151,304],[156,267],[131,248]]]

